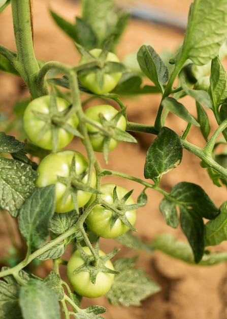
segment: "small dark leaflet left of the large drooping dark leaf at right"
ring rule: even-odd
[[[161,214],[163,214],[167,225],[177,228],[179,219],[177,215],[176,203],[167,197],[164,197],[159,204]]]

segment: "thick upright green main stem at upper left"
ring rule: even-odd
[[[33,47],[30,0],[11,0],[14,36],[17,47],[17,70],[23,77],[31,97],[47,94],[47,87],[40,88],[36,83],[39,65]]]

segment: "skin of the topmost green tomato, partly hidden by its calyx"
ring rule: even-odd
[[[102,52],[102,49],[92,49],[89,51],[90,54],[98,58]],[[118,57],[112,52],[108,52],[107,62],[120,62]],[[88,62],[86,57],[82,57],[79,64],[83,64]],[[118,84],[119,79],[121,78],[121,72],[115,73],[105,73],[103,78],[103,87],[101,88],[96,81],[96,74],[94,72],[79,76],[80,83],[84,88],[95,94],[105,94],[111,92],[115,86]]]

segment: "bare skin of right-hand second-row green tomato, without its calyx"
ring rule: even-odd
[[[111,121],[117,113],[118,111],[114,109],[111,105],[95,105],[94,107],[88,108],[84,112],[85,116],[89,120],[95,122],[95,124],[101,128],[103,127],[103,125],[101,123],[100,114],[102,114],[107,121]],[[101,130],[99,130],[99,128],[88,123],[86,123],[86,127],[88,130],[88,134],[89,134],[89,138],[90,138],[93,150],[97,152],[103,152],[103,145],[104,145],[104,138],[105,138],[104,133]],[[123,115],[119,118],[119,120],[115,124],[115,127],[121,130],[126,129],[126,120],[123,117]],[[108,130],[108,125],[106,125],[104,128]],[[111,126],[109,127],[109,129],[113,130]],[[109,144],[109,151],[113,150],[118,143],[119,141],[111,138],[110,144]]]

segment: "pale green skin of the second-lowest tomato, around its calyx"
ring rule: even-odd
[[[103,184],[101,186],[101,192],[103,193],[101,197],[109,204],[113,204],[114,187],[115,184],[112,183]],[[126,189],[120,186],[117,186],[116,191],[119,199],[121,199],[128,192]],[[92,201],[92,198],[93,195],[90,201]],[[126,200],[125,204],[132,205],[135,204],[135,202],[133,198],[130,196]],[[87,216],[85,221],[88,229],[96,235],[104,238],[114,238],[128,231],[129,228],[125,226],[120,219],[117,219],[112,229],[110,229],[110,221],[112,214],[113,212],[110,209],[102,205],[94,206],[94,208],[89,212],[89,215]],[[136,209],[126,211],[125,216],[127,217],[128,221],[132,225],[134,225],[136,222]]]

